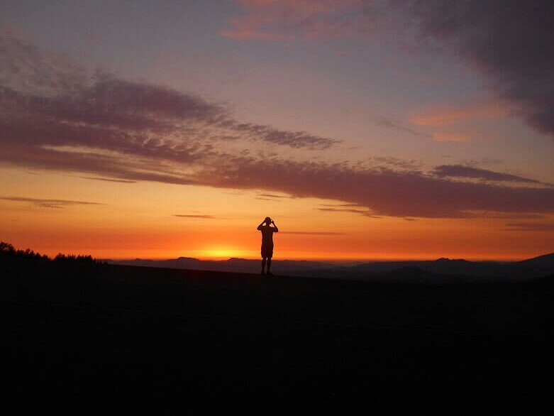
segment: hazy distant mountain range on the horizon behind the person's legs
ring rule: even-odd
[[[260,273],[260,261],[229,258],[224,261],[203,261],[179,257],[169,260],[105,260],[107,263],[128,266],[214,270],[238,273]],[[363,280],[404,280],[406,276],[433,279],[433,276],[467,278],[536,278],[554,273],[554,253],[524,261],[466,261],[439,258],[435,261],[374,261],[340,264],[322,261],[275,260],[272,272],[277,275],[297,275],[317,278],[347,278]],[[484,279],[484,280],[487,280]]]

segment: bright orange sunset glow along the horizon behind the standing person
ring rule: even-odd
[[[554,244],[552,233],[506,230],[504,219],[372,218],[320,210],[338,204],[332,200],[267,200],[259,196],[262,190],[127,184],[55,173],[39,180],[26,170],[6,169],[0,170],[0,185],[6,195],[33,198],[0,199],[2,239],[49,256],[258,258],[256,226],[266,215],[280,230],[276,259],[513,260],[538,256]],[[42,202],[46,196],[96,204],[51,207],[55,202]]]

